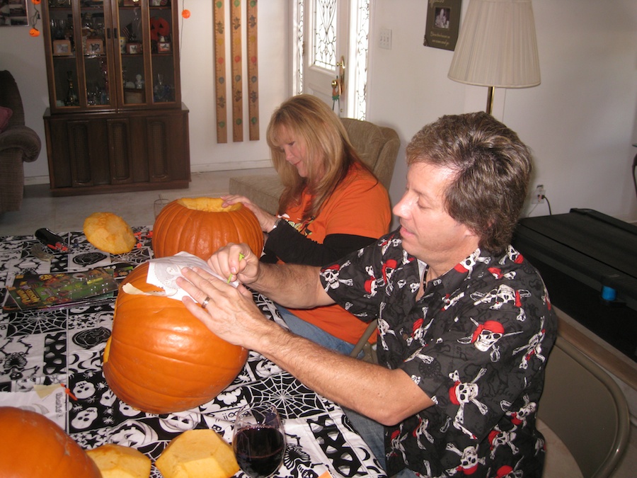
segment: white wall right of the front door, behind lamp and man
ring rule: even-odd
[[[395,127],[404,147],[440,115],[485,108],[486,88],[447,78],[452,52],[423,47],[426,1],[372,2],[370,120]],[[533,149],[532,188],[544,184],[553,214],[588,207],[635,221],[637,2],[534,0],[533,8],[541,85],[496,89],[493,114]],[[381,28],[392,30],[391,50],[377,47]],[[394,201],[405,174],[403,148]],[[538,205],[530,215],[548,213]]]

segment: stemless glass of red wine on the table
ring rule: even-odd
[[[277,407],[247,404],[236,414],[232,448],[241,470],[252,478],[272,477],[285,451],[285,433]]]

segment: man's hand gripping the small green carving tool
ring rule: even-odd
[[[251,284],[259,275],[259,258],[252,253],[248,244],[229,243],[219,248],[208,259],[208,266],[228,282],[239,280],[242,284]]]

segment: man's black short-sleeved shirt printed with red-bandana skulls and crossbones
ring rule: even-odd
[[[388,474],[539,477],[544,439],[536,406],[556,318],[539,274],[512,248],[478,249],[420,286],[398,232],[322,272],[326,291],[379,319],[380,363],[403,369],[435,402],[386,428]]]

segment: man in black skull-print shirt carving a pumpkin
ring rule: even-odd
[[[469,113],[423,127],[406,156],[401,227],[376,244],[322,270],[260,263],[245,244],[208,261],[285,307],[338,303],[378,319],[379,365],[294,336],[243,285],[204,271],[182,271],[178,285],[194,298],[183,302],[217,336],[368,417],[355,426],[372,449],[384,435],[377,456],[390,475],[540,477],[536,408],[556,318],[539,273],[510,246],[529,149],[492,116]]]

